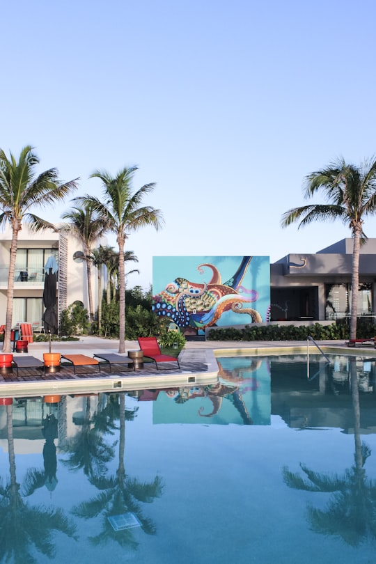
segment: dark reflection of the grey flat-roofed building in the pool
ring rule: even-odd
[[[276,357],[270,361],[272,414],[297,429],[340,428],[354,432],[354,409],[350,390],[350,367],[346,357]],[[305,377],[304,375],[310,375]],[[357,359],[361,433],[376,432],[375,361]]]

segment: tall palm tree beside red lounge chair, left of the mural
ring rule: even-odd
[[[141,206],[143,196],[149,194],[155,184],[143,185],[132,192],[132,179],[137,167],[125,167],[112,177],[106,171],[96,171],[91,178],[99,178],[104,189],[101,201],[94,196],[75,198],[81,205],[93,205],[93,210],[102,218],[107,230],[115,233],[119,248],[119,352],[125,352],[125,267],[124,248],[129,233],[148,225],[159,229],[162,212],[151,206]]]

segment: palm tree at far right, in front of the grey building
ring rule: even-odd
[[[311,198],[319,191],[327,203],[288,210],[282,216],[281,225],[286,227],[300,221],[300,228],[316,220],[340,219],[350,228],[354,237],[350,338],[354,339],[357,337],[360,246],[367,239],[363,232],[363,221],[366,215],[376,211],[376,157],[365,160],[360,166],[347,164],[341,157],[326,169],[309,174],[304,185],[304,196]]]

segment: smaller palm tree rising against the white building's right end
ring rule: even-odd
[[[106,226],[104,221],[98,216],[90,203],[84,207],[72,207],[72,210],[65,212],[62,216],[63,219],[68,219],[69,224],[65,224],[59,230],[70,233],[76,237],[79,242],[84,246],[84,256],[86,260],[86,274],[88,283],[88,310],[90,320],[94,319],[93,308],[93,292],[91,289],[91,254],[93,246],[100,237],[102,237]]]

